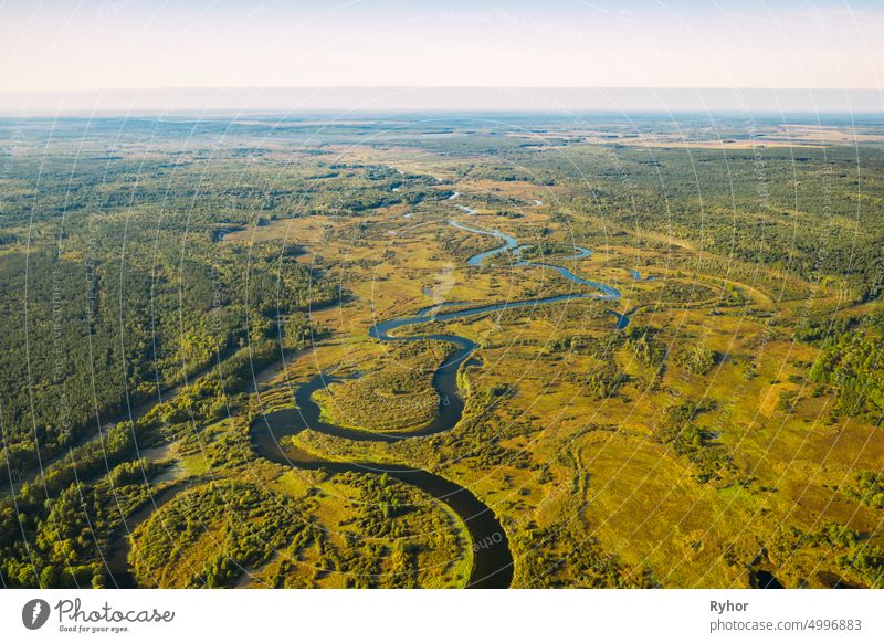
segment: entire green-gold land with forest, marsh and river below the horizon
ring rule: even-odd
[[[884,126],[587,118],[1,119],[0,584],[884,587]]]

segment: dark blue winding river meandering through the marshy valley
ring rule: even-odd
[[[455,192],[450,199],[456,199]],[[475,210],[465,205],[455,204],[457,209],[466,214],[474,215]],[[295,435],[309,428],[328,435],[336,435],[347,440],[364,440],[377,442],[396,442],[411,438],[431,435],[443,431],[450,431],[463,417],[464,401],[457,388],[457,372],[461,368],[469,368],[473,362],[477,362],[472,357],[478,347],[473,340],[459,335],[427,334],[414,336],[398,336],[394,331],[406,326],[423,324],[428,322],[453,322],[477,315],[485,315],[497,310],[509,308],[524,308],[556,304],[576,298],[596,298],[599,301],[613,302],[621,298],[620,291],[577,276],[570,270],[552,264],[536,263],[522,259],[522,251],[528,246],[520,245],[518,240],[504,234],[497,230],[484,230],[464,225],[454,220],[449,224],[473,234],[493,236],[502,241],[502,245],[480,252],[467,260],[467,265],[481,267],[497,255],[511,253],[514,266],[536,266],[544,270],[552,270],[565,278],[594,288],[596,293],[569,293],[552,297],[538,299],[527,299],[522,302],[506,302],[503,304],[492,304],[485,306],[470,307],[463,303],[448,303],[427,307],[419,310],[413,316],[397,317],[381,322],[369,328],[369,335],[379,341],[418,341],[432,339],[446,341],[456,347],[454,354],[444,363],[440,365],[433,375],[432,386],[439,394],[439,410],[433,420],[423,428],[399,433],[379,433],[371,431],[360,431],[347,426],[340,426],[325,421],[322,418],[319,405],[313,400],[313,393],[324,389],[329,383],[340,381],[339,378],[328,373],[319,373],[306,383],[302,384],[294,396],[294,409],[282,409],[261,415],[252,425],[252,444],[255,451],[264,457],[287,466],[297,468],[323,468],[335,473],[360,472],[360,473],[387,473],[388,476],[397,478],[407,484],[414,485],[432,497],[444,503],[451,508],[466,525],[473,540],[473,569],[467,582],[470,588],[506,588],[513,580],[513,556],[509,551],[509,542],[506,531],[502,527],[494,512],[483,504],[469,489],[452,483],[441,476],[422,470],[413,470],[399,465],[387,465],[377,463],[345,463],[317,458],[316,456],[297,449],[290,441],[283,438]],[[565,260],[577,260],[589,256],[591,251],[583,247],[575,249],[571,256]],[[456,307],[454,310],[446,308]],[[629,324],[629,317],[614,310],[608,313],[613,315],[618,328],[624,328]]]

